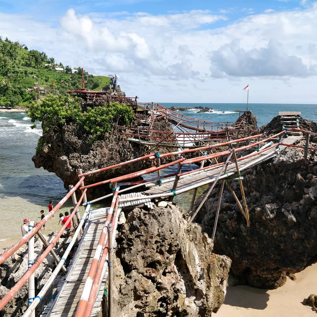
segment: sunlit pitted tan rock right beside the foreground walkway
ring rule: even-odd
[[[230,259],[172,203],[126,213],[114,263],[114,316],[211,316],[223,303]],[[188,215],[187,215],[188,216]]]

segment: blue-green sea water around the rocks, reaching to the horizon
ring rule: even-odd
[[[245,104],[214,103],[161,103],[164,107],[211,107],[211,113],[197,113],[197,110],[183,111],[194,118],[227,122],[236,121],[239,114],[235,110],[245,110]],[[300,111],[307,120],[317,121],[317,105],[306,104],[249,104],[258,120],[258,127],[267,124],[279,111]],[[36,169],[32,162],[37,141],[42,135],[40,124],[31,129],[26,113],[0,112],[0,252],[2,248],[19,239],[24,218],[38,222],[40,210],[48,212],[49,200],[55,205],[65,196],[63,182],[54,173]],[[185,195],[185,194],[184,194]],[[191,195],[175,197],[175,203],[188,208]],[[69,210],[69,200],[61,212]],[[81,207],[83,212],[83,207]],[[60,228],[58,215],[46,225],[49,233]]]

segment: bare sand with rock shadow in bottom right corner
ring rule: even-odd
[[[228,287],[225,301],[215,316],[317,316],[311,307],[301,303],[310,294],[317,293],[316,273],[317,263],[314,263],[295,274],[295,281],[288,278],[287,282],[277,289],[265,290],[249,286]]]

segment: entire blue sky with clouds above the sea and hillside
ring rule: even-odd
[[[317,1],[0,0],[0,36],[143,102],[317,104]]]

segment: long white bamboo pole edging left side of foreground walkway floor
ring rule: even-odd
[[[90,209],[90,205],[87,205],[86,210],[85,210],[85,212],[83,214],[83,217],[81,218],[81,221],[80,221],[80,223],[79,223],[79,225],[78,225],[78,227],[77,227],[77,229],[76,229],[76,231],[74,233],[74,236],[73,236],[71,242],[68,244],[67,249],[65,250],[63,256],[61,257],[60,262],[57,264],[55,270],[52,272],[52,275],[49,277],[49,279],[47,280],[47,282],[45,283],[45,285],[41,289],[40,293],[37,295],[37,297],[34,299],[32,304],[25,311],[25,313],[23,314],[23,317],[29,317],[29,316],[33,317],[32,312],[35,312],[36,306],[41,302],[42,297],[49,290],[49,288],[52,285],[52,283],[54,282],[57,274],[59,273],[59,271],[61,270],[62,266],[64,265],[68,255],[69,255],[69,252],[73,248],[73,246],[74,246],[74,244],[76,242],[77,236],[80,233],[80,229],[82,228],[82,226],[84,224],[84,221],[85,221],[85,218],[86,218],[86,216],[88,214],[89,209]]]

